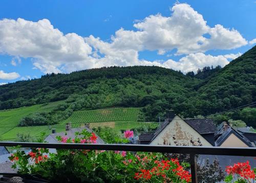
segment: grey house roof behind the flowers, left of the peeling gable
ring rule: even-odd
[[[47,136],[45,141],[48,143],[59,143],[58,140],[56,139],[56,136],[66,136],[67,138],[75,139],[76,135],[75,132],[82,132],[82,130],[86,129],[89,132],[93,132],[92,129],[87,128],[87,127],[82,127],[82,128],[71,128],[68,131],[63,131],[63,132],[58,132],[58,133],[52,133]],[[96,134],[98,137],[96,142],[97,144],[104,144],[104,141],[99,138],[99,136]]]

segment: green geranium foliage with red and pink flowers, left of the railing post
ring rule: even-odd
[[[95,143],[94,133],[83,131],[62,143]],[[32,149],[17,150],[10,157],[20,174],[33,174],[51,182],[190,182],[189,164],[167,159],[161,153],[125,151]]]

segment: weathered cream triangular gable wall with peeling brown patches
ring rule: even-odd
[[[198,138],[203,146],[212,146],[194,128],[190,127],[180,117],[176,116],[150,143],[151,145],[199,145]],[[177,142],[177,143],[174,143]]]

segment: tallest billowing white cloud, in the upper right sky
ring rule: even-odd
[[[212,49],[229,50],[247,44],[237,30],[222,25],[209,27],[203,16],[187,4],[176,4],[171,10],[173,14],[169,17],[150,15],[137,22],[134,27],[138,31],[116,31],[112,36],[112,47],[158,50],[159,54],[177,49],[177,54],[189,54]]]

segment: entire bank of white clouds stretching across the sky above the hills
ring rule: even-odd
[[[93,35],[81,37],[63,34],[48,19],[37,22],[22,18],[0,20],[0,53],[19,58],[31,57],[35,69],[43,73],[70,73],[102,66],[157,65],[183,72],[218,64],[224,66],[237,54],[211,56],[212,49],[234,49],[247,44],[242,35],[222,25],[210,27],[203,16],[187,4],[176,4],[168,17],[150,15],[134,24],[136,30],[119,29],[111,41]],[[176,49],[186,54],[179,61],[147,61],[139,59],[141,51],[157,51],[159,55]]]

